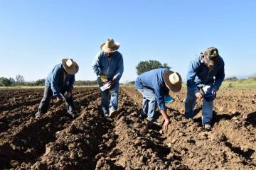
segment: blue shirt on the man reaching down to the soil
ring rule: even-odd
[[[136,89],[151,89],[154,91],[156,101],[160,110],[165,110],[164,96],[169,93],[169,89],[164,83],[164,72],[166,68],[152,69],[144,72],[135,81]]]

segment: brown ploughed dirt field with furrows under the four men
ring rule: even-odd
[[[119,115],[100,115],[100,90],[73,91],[78,118],[52,100],[33,118],[43,89],[0,90],[0,169],[256,169],[256,89],[220,89],[213,130],[183,116],[186,91],[168,105],[169,130],[139,118],[142,96],[122,88]],[[161,121],[161,116],[159,121]]]

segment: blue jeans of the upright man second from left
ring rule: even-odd
[[[100,87],[103,85],[100,77],[97,78],[97,83],[99,84]],[[119,91],[119,81],[115,81],[114,85],[110,89],[107,89],[105,91],[100,91],[100,96],[102,98],[102,111],[104,115],[110,113],[110,111],[117,110],[118,91]],[[110,102],[109,102],[109,95],[110,95]]]

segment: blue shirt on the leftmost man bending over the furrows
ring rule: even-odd
[[[53,91],[53,96],[60,96],[60,89],[72,91],[75,74],[67,74],[64,79],[63,64],[57,64],[46,78],[46,86]]]

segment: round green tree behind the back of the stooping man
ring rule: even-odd
[[[167,63],[161,64],[161,62],[156,60],[139,62],[139,64],[136,67],[138,75],[144,72],[148,72],[151,69],[159,69],[159,68],[171,69],[171,67],[169,67]]]

